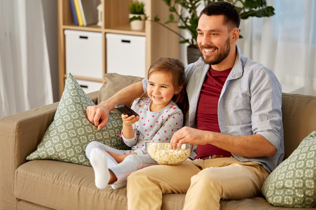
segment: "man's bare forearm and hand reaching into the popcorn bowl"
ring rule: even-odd
[[[194,145],[211,144],[231,153],[249,158],[273,157],[276,153],[276,147],[259,134],[232,136],[224,133],[183,127],[174,133],[171,142],[190,143]]]

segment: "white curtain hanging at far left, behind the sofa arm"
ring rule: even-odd
[[[0,0],[0,118],[52,102],[41,0]]]

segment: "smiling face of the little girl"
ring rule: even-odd
[[[174,88],[172,78],[167,72],[155,72],[148,78],[147,94],[152,99],[150,111],[157,112],[166,107],[172,97],[179,93],[179,90]]]

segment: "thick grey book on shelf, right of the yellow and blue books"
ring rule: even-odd
[[[98,23],[98,4],[99,0],[79,0],[81,15],[85,26]]]

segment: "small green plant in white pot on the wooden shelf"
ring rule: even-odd
[[[129,22],[132,30],[143,30],[145,26],[145,4],[140,0],[133,0],[128,5]]]

